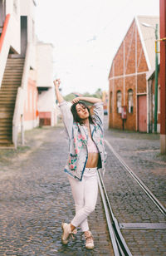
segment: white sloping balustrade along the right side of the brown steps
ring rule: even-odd
[[[24,145],[24,128],[23,128],[23,112],[24,112],[24,105],[27,93],[27,83],[29,77],[29,70],[30,70],[30,62],[31,62],[31,49],[32,44],[29,42],[27,43],[27,51],[26,57],[22,72],[22,84],[17,89],[17,98],[16,104],[14,108],[14,115],[12,118],[12,142],[17,149],[17,136],[21,124],[21,132],[22,132],[22,145]]]

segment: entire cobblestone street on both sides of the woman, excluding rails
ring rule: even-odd
[[[0,150],[0,255],[114,255],[100,195],[90,215],[95,249],[85,249],[80,229],[76,240],[61,244],[61,221],[75,213],[63,172],[64,135],[61,126],[37,128],[26,132],[26,145],[17,151]],[[166,162],[159,155],[159,135],[105,130],[105,139],[164,204]],[[104,181],[119,223],[163,223],[164,215],[106,150]],[[165,255],[165,229],[121,230],[133,255]]]

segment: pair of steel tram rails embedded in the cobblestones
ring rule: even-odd
[[[154,204],[158,207],[159,211],[165,216],[166,209],[164,208],[163,204],[159,202],[159,199],[157,199],[155,195],[149,190],[149,188],[146,185],[144,185],[144,182],[140,180],[137,175],[134,174],[134,171],[131,170],[129,166],[125,164],[125,161],[120,157],[120,155],[117,154],[117,152],[114,150],[114,148],[110,145],[110,143],[107,140],[105,140],[105,144],[109,147],[109,149],[112,151],[115,157],[120,161],[120,164],[124,166],[125,170],[129,172],[129,175],[132,176],[132,178],[138,183],[141,189],[144,190],[145,194],[148,195],[149,199],[151,199],[154,202]],[[114,249],[114,254],[115,256],[130,256],[132,254],[129,250],[128,245],[125,242],[123,235],[121,234],[120,224],[115,218],[115,214],[113,213],[113,210],[111,208],[110,200],[105,190],[105,184],[100,174],[100,171],[98,171],[98,180],[100,195],[105,209],[105,218],[110,233],[111,243]]]

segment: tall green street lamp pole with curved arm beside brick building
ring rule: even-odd
[[[154,133],[157,133],[157,124],[158,124],[158,24],[155,27],[142,22],[144,27],[151,27],[155,31],[155,85],[154,85]]]

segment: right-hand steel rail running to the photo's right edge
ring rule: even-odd
[[[128,165],[125,164],[125,161],[120,157],[120,155],[114,150],[112,145],[105,140],[106,145],[110,148],[110,150],[113,152],[113,154],[116,156],[118,160],[120,160],[120,163],[125,167],[125,170],[129,172],[129,174],[136,180],[136,182],[139,184],[139,186],[144,190],[144,192],[149,196],[149,198],[156,204],[156,206],[159,208],[159,210],[166,215],[166,209],[164,208],[164,205],[159,202],[159,199],[155,197],[155,195],[149,190],[149,188],[144,184],[142,180],[139,179],[137,175],[135,175],[134,171],[129,168]]]

